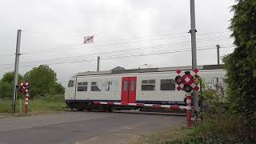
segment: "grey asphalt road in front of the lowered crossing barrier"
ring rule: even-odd
[[[127,143],[184,125],[186,117],[159,114],[66,112],[20,118],[0,118],[0,143]]]

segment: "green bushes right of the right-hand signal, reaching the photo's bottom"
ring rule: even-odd
[[[176,138],[166,143],[250,143],[244,139],[242,116],[230,114],[229,103],[223,94],[216,90],[205,90],[202,98],[210,106],[204,113],[204,120],[199,122],[185,138]]]

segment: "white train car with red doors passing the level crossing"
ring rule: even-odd
[[[75,74],[65,92],[66,105],[77,110],[137,110],[142,106],[186,106],[186,94],[178,91],[176,70],[190,66],[85,72]],[[198,66],[207,82],[225,78],[221,66]]]

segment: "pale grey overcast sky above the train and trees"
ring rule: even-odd
[[[227,29],[234,0],[195,2],[198,65],[216,64],[217,44],[221,56],[234,50]],[[14,70],[18,29],[19,72],[50,64],[62,83],[96,70],[98,55],[101,70],[191,65],[189,0],[0,0],[0,78]],[[87,35],[93,44],[82,44]]]

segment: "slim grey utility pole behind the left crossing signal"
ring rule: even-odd
[[[13,112],[15,113],[16,99],[17,99],[17,86],[18,86],[18,62],[21,46],[21,34],[22,30],[18,30],[17,33],[17,43],[16,43],[16,53],[15,53],[15,67],[14,67],[14,91],[13,91]]]

